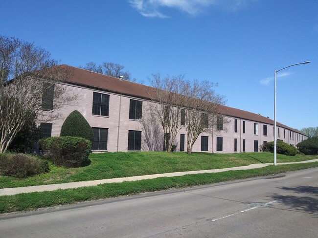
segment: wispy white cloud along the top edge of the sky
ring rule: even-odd
[[[163,14],[164,8],[175,8],[195,16],[208,6],[221,6],[230,11],[246,7],[256,0],[128,0],[144,17],[168,18]]]

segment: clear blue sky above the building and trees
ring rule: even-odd
[[[227,106],[290,127],[318,126],[317,0],[0,0],[0,35],[45,48],[60,63],[125,66],[218,82]]]

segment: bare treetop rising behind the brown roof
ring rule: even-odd
[[[135,82],[136,79],[132,79],[131,73],[128,71],[124,71],[124,66],[112,63],[112,62],[103,62],[102,64],[97,65],[95,62],[89,62],[84,67],[79,66],[79,68],[83,68],[86,70],[90,70],[92,72],[108,75],[111,77],[119,78],[120,76],[123,76],[123,79],[128,81]]]

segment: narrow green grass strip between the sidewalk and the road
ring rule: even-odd
[[[277,166],[271,165],[259,169],[227,171],[213,174],[185,175],[171,178],[145,179],[140,181],[100,184],[97,186],[76,189],[56,190],[52,192],[1,196],[0,213],[35,210],[42,207],[73,204],[88,200],[114,198],[144,192],[190,187],[235,179],[254,178],[313,167],[318,167],[318,162]]]

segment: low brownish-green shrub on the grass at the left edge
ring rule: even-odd
[[[0,174],[26,178],[49,171],[46,160],[26,154],[4,154],[0,156]]]

